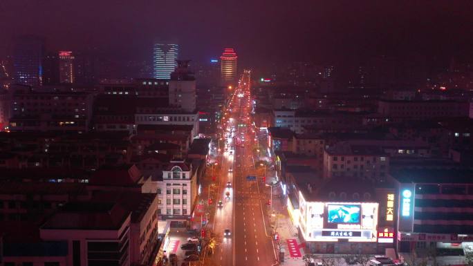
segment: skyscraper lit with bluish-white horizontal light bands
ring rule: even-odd
[[[170,79],[171,72],[177,67],[177,44],[154,44],[153,67],[155,79]]]

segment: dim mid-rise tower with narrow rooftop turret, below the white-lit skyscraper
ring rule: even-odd
[[[177,60],[178,66],[169,81],[169,105],[187,112],[196,110],[196,78],[189,70],[190,60]]]

